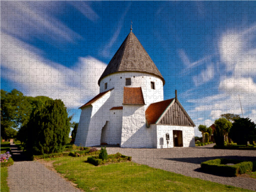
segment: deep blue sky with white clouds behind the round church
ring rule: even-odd
[[[256,122],[256,1],[0,1],[1,88],[60,98],[73,120],[130,31],[198,126]],[[238,97],[239,95],[239,97]],[[196,135],[199,133],[196,131]]]

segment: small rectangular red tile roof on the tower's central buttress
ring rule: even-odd
[[[123,104],[145,104],[141,87],[123,87]]]

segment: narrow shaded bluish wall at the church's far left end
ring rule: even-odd
[[[88,134],[92,106],[86,106],[82,109],[80,119],[76,131],[74,144],[77,146],[85,146],[85,140]]]

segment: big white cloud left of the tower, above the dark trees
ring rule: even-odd
[[[80,57],[72,68],[52,63],[31,45],[1,34],[1,77],[15,83],[25,95],[61,99],[78,107],[99,92],[97,80],[106,64],[93,57]],[[12,55],[15,53],[15,55]]]

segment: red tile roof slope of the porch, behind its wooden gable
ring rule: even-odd
[[[174,98],[151,103],[145,111],[147,123],[155,124],[157,119],[161,116],[173,99]]]

